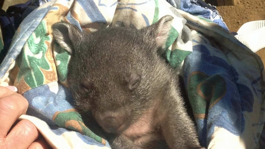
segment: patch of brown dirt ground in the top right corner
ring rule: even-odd
[[[234,0],[235,6],[217,6],[217,10],[232,32],[250,21],[265,20],[265,0]]]

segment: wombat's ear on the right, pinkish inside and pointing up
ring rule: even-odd
[[[154,36],[156,39],[156,45],[158,47],[164,48],[165,43],[168,39],[169,31],[172,27],[173,17],[170,15],[166,15],[158,20],[155,24],[152,24],[146,28],[147,35]]]

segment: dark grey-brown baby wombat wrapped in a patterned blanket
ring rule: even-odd
[[[113,134],[112,148],[159,148],[163,141],[170,149],[204,148],[184,108],[176,70],[158,54],[172,20],[93,33],[66,22],[52,26],[54,39],[71,54],[67,81],[76,109],[91,111]]]

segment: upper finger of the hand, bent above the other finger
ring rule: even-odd
[[[25,114],[28,101],[20,94],[0,98],[0,138],[5,138],[19,116]]]

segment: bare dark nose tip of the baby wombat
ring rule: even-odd
[[[121,125],[122,124],[114,117],[107,117],[103,120],[103,128],[105,128],[105,131],[108,133],[115,133]]]

